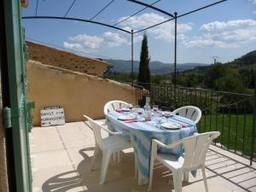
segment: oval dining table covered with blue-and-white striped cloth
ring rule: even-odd
[[[153,116],[150,120],[120,120],[120,116],[129,115],[129,112],[111,111],[106,119],[109,127],[113,131],[121,131],[124,133],[126,140],[132,140],[134,154],[137,162],[138,184],[143,185],[148,183],[149,165],[151,155],[151,141],[157,139],[161,143],[171,144],[180,139],[192,136],[197,132],[195,122],[191,119],[184,118],[179,115],[172,115],[168,119],[165,116],[158,117],[161,122],[172,122],[180,125],[179,128],[169,130],[159,126],[156,122],[156,117]],[[176,148],[158,148],[158,153],[166,153],[175,155],[177,158],[183,154],[183,146]]]

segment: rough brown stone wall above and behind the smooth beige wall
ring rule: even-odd
[[[81,55],[54,49],[43,44],[26,42],[28,47],[28,59],[39,61],[46,65],[66,68],[74,72],[87,73],[102,77],[103,70],[110,65],[105,61],[91,59]]]

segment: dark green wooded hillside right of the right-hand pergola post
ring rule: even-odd
[[[252,93],[253,69],[256,69],[256,50],[227,63],[217,62],[209,67],[196,67],[180,73],[177,84],[212,90]]]

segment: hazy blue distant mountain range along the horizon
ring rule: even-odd
[[[113,68],[111,71],[113,72],[131,72],[131,60],[104,60],[110,63]],[[187,71],[194,69],[195,67],[206,67],[209,64],[205,63],[178,63],[177,69],[179,72]],[[139,61],[133,61],[134,72],[138,72]],[[160,61],[150,61],[149,62],[150,72],[155,74],[167,74],[173,72],[173,64],[164,63]]]

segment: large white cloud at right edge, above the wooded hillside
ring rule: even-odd
[[[200,30],[203,35],[186,41],[186,47],[236,48],[256,40],[256,20],[214,21],[202,25]]]

